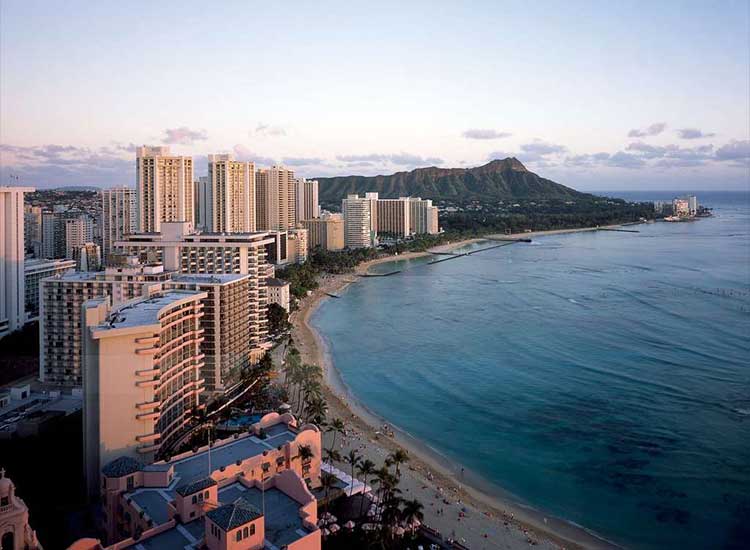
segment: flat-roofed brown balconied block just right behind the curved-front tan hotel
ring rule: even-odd
[[[204,292],[201,328],[207,392],[222,392],[250,365],[250,276],[173,275],[167,288]]]

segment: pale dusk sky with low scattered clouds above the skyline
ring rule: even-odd
[[[581,190],[750,188],[748,3],[0,2],[0,185],[135,146],[306,177],[515,156]]]

